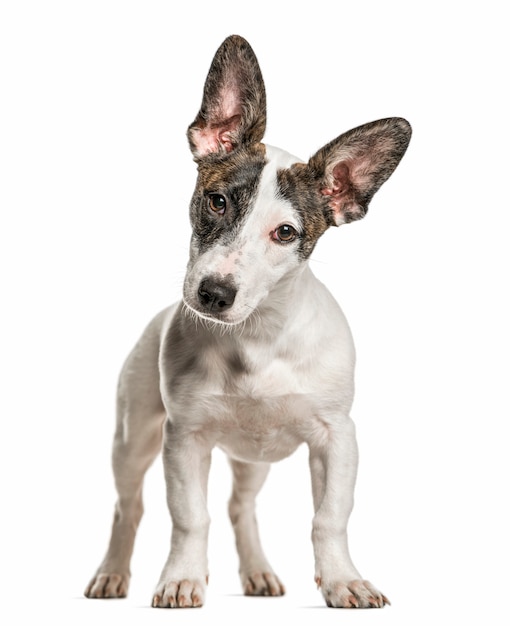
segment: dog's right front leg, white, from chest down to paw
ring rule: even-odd
[[[348,416],[328,422],[325,436],[310,446],[315,580],[330,607],[382,607],[388,600],[361,579],[347,544],[358,466],[354,424]]]

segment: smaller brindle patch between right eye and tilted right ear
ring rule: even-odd
[[[295,163],[277,173],[278,193],[289,201],[301,218],[302,234],[299,242],[301,258],[312,253],[319,237],[332,221],[327,220],[327,200],[321,195],[319,184],[310,168]]]

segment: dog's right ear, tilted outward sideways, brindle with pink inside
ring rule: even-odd
[[[340,226],[365,216],[379,187],[407,149],[411,126],[391,117],[359,126],[321,148],[309,161],[328,200],[328,220]]]

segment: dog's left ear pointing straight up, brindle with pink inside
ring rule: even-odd
[[[202,106],[188,128],[195,158],[231,152],[260,141],[266,128],[266,92],[257,58],[237,35],[218,48],[204,85]]]

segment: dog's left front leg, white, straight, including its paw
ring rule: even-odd
[[[199,607],[207,584],[207,478],[212,445],[196,433],[182,432],[167,419],[163,463],[172,517],[168,560],[152,606]]]

